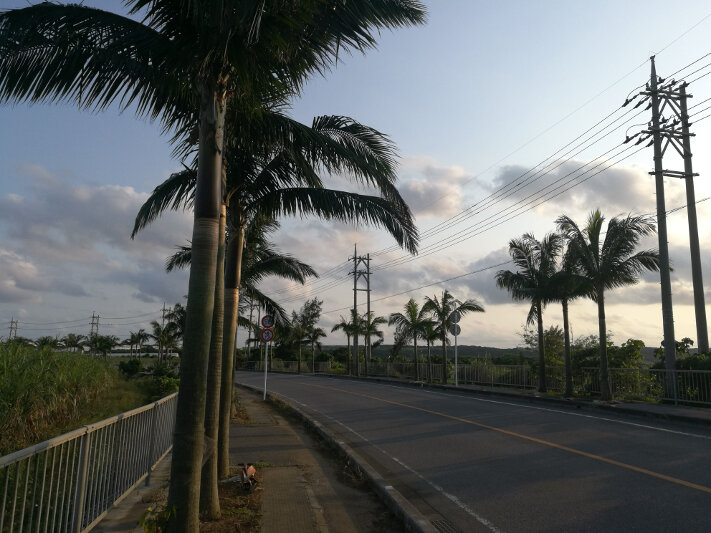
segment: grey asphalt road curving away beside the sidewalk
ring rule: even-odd
[[[705,427],[326,377],[271,374],[268,388],[443,533],[711,531]]]

